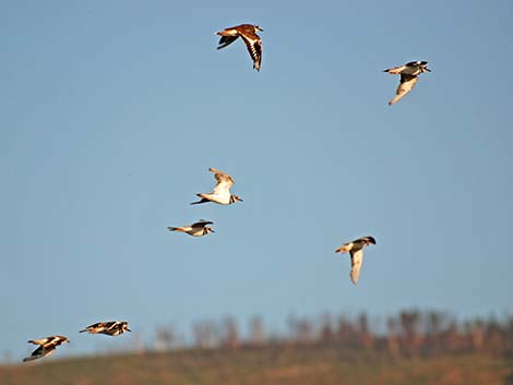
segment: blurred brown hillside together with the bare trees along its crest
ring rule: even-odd
[[[456,322],[444,313],[403,311],[386,333],[356,317],[291,316],[284,336],[263,321],[241,338],[237,323],[193,325],[194,347],[178,349],[172,327],[156,351],[0,366],[1,385],[513,385],[513,318]],[[381,325],[383,326],[383,325]],[[383,329],[383,327],[381,327]]]

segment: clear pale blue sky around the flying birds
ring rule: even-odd
[[[126,320],[513,311],[511,1],[0,2],[1,351]],[[264,32],[262,69],[242,41]],[[389,107],[398,76],[428,60]],[[231,206],[190,206],[236,180]],[[215,233],[167,226],[200,218]],[[360,281],[335,248],[371,234]],[[108,337],[105,337],[108,338]],[[121,338],[121,337],[120,337]],[[64,349],[62,349],[64,350]]]

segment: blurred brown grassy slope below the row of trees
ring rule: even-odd
[[[0,366],[2,385],[512,385],[513,358],[391,359],[334,347],[264,347],[88,357]]]

